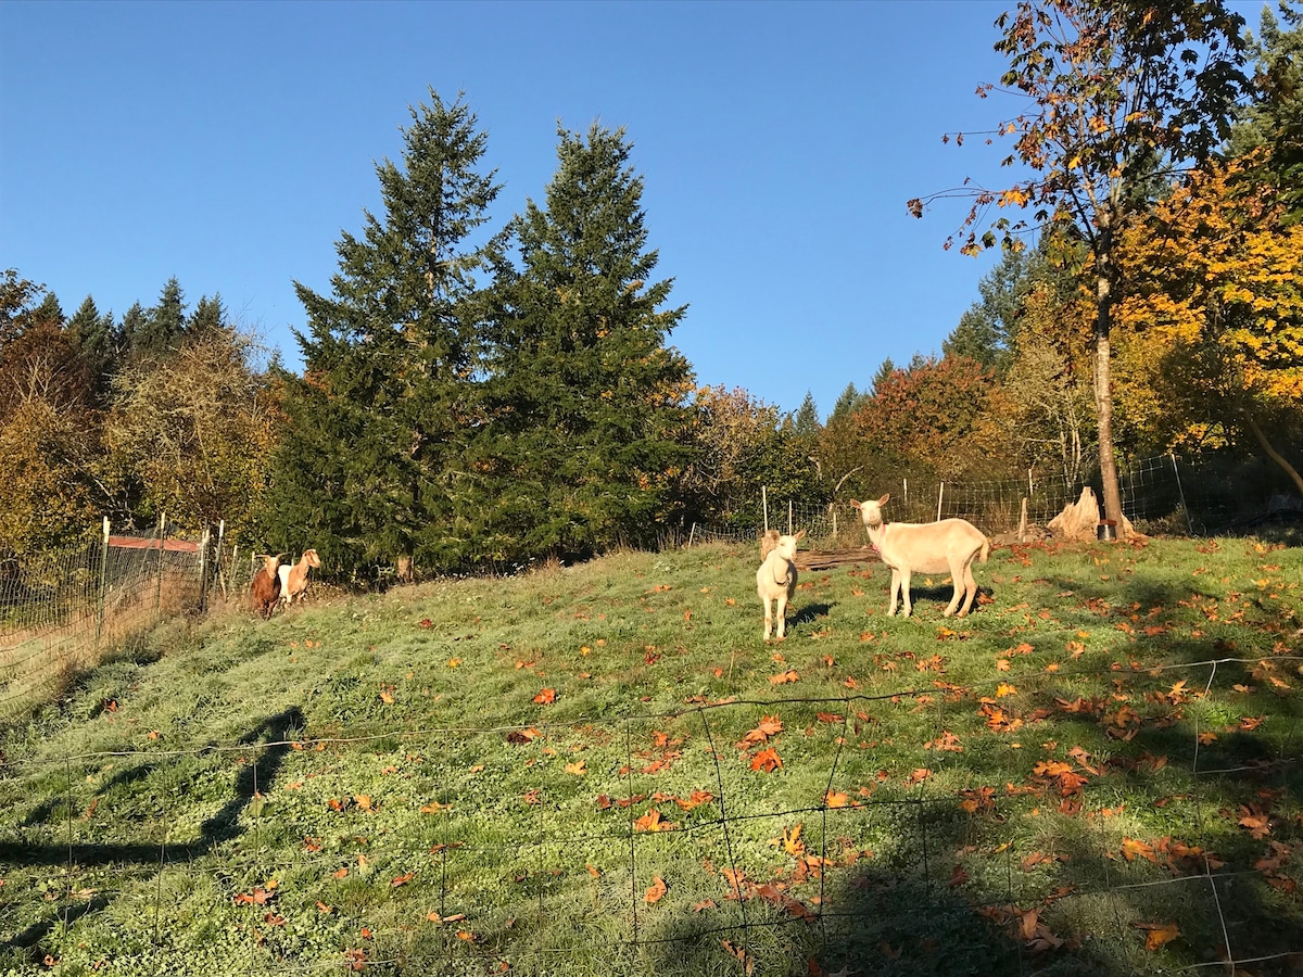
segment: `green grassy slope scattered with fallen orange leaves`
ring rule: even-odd
[[[1298,967],[1303,550],[810,572],[769,645],[757,561],[160,628],[4,731],[0,974]]]

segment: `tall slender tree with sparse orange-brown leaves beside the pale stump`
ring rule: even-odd
[[[1002,90],[1029,100],[1027,111],[998,124],[995,135],[1015,138],[1006,165],[1020,162],[1036,175],[1003,190],[938,191],[908,207],[923,216],[936,199],[969,198],[959,231],[964,254],[997,242],[1018,250],[1024,232],[1044,227],[1088,248],[1100,475],[1105,516],[1121,526],[1111,382],[1117,234],[1122,220],[1143,208],[1162,171],[1207,158],[1226,138],[1247,85],[1243,18],[1218,0],[1023,0],[995,25],[1002,30],[995,51],[1010,59]],[[982,85],[977,92],[985,98],[994,87]],[[1031,208],[1032,218],[999,216],[979,233],[976,225],[992,207]]]

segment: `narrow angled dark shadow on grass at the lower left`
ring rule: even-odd
[[[203,822],[199,828],[199,838],[185,844],[26,844],[17,842],[0,842],[0,862],[13,866],[72,866],[81,868],[111,868],[111,866],[141,866],[158,869],[164,862],[182,862],[197,858],[211,852],[216,845],[227,842],[238,834],[240,813],[249,806],[253,799],[266,792],[275,782],[276,772],[289,745],[287,740],[292,729],[304,727],[304,714],[298,706],[267,716],[261,723],[246,732],[237,743],[253,746],[258,743],[270,743],[259,752],[258,759],[241,767],[236,778],[232,797],[218,813]],[[99,793],[107,793],[113,788],[129,787],[142,782],[163,769],[158,761],[139,763],[115,774],[100,788]],[[31,827],[48,821],[66,802],[64,797],[55,797],[36,808],[23,818],[22,825]],[[69,815],[70,817],[70,815]],[[96,895],[87,901],[68,903],[48,917],[29,925],[14,934],[8,941],[0,942],[0,954],[7,948],[18,948],[30,954],[34,963],[44,959],[40,941],[44,939],[56,926],[68,926],[77,920],[94,912],[108,908],[111,900],[103,895]]]

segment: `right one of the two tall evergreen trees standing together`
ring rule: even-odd
[[[642,177],[623,129],[558,130],[543,206],[513,221],[480,465],[498,556],[584,556],[654,543],[689,448],[691,367],[666,344],[684,306],[650,283]]]

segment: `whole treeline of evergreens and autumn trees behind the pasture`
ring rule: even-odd
[[[1303,42],[1285,17],[1264,16],[1221,151],[1156,165],[1115,229],[1111,438],[1123,457],[1265,455],[1303,494]],[[0,558],[167,512],[315,547],[335,576],[511,568],[751,524],[762,486],[820,502],[902,475],[1092,474],[1096,276],[1071,233],[1007,250],[939,354],[883,362],[821,418],[810,397],[696,387],[623,130],[559,129],[542,199],[504,225],[486,158],[461,98],[410,109],[330,292],[296,285],[301,371],[175,280],[116,319],[91,298],[65,315],[9,271]],[[817,350],[799,367],[831,369]]]

